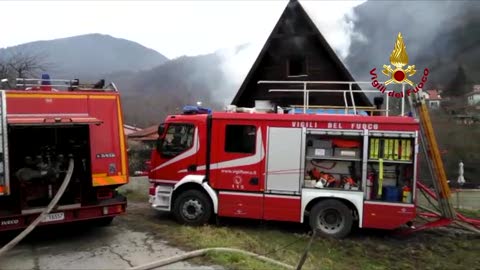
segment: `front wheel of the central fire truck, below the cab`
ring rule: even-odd
[[[187,190],[175,200],[173,214],[182,224],[198,226],[208,222],[212,215],[212,205],[205,193]]]

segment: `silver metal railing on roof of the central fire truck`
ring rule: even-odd
[[[384,84],[384,82],[379,82]],[[386,116],[390,114],[390,96],[388,93],[395,92],[393,90],[385,90],[382,94],[378,89],[372,86],[372,82],[366,81],[268,81],[261,80],[258,81],[258,84],[282,84],[282,85],[302,85],[302,88],[272,88],[269,89],[269,92],[291,92],[291,93],[303,93],[303,105],[291,105],[292,108],[302,108],[303,113],[307,113],[311,109],[343,109],[345,114],[348,114],[349,111],[352,111],[353,114],[358,114],[359,110],[365,111],[376,111],[376,112],[385,112]],[[369,88],[363,90],[354,90],[354,85],[369,85]],[[348,90],[344,89],[309,89],[309,85],[348,85]],[[402,97],[405,96],[405,84],[402,84]],[[310,94],[311,93],[342,93],[344,106],[317,106],[310,105]],[[374,107],[364,107],[356,106],[353,93],[377,93],[386,96],[385,109],[375,109]],[[350,104],[349,104],[350,103]],[[401,98],[401,112],[400,116],[405,116],[405,99]]]

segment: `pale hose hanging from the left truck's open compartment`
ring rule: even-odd
[[[46,215],[52,211],[52,209],[57,205],[58,201],[62,197],[63,193],[67,189],[68,184],[70,183],[70,179],[72,178],[73,174],[73,166],[74,166],[74,161],[73,158],[70,159],[70,162],[68,164],[68,170],[67,174],[65,175],[65,179],[63,180],[62,185],[58,189],[57,194],[53,197],[53,199],[50,201],[50,204],[43,210],[43,212],[25,229],[23,232],[21,232],[17,237],[15,237],[13,240],[11,240],[8,244],[2,247],[0,249],[0,257],[4,255],[8,250],[12,249],[14,246],[16,246],[20,241],[23,240],[35,227],[40,223]]]

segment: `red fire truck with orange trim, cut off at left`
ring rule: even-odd
[[[5,81],[3,81],[5,82]],[[40,225],[125,212],[116,188],[128,182],[120,96],[114,84],[17,79],[0,91],[0,231],[31,224],[73,173]]]

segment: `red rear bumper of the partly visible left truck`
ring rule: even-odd
[[[62,210],[54,209],[45,217],[44,221],[40,222],[37,226],[115,217],[125,213],[126,208],[126,198],[117,195],[115,198],[104,200],[94,205]],[[0,216],[0,232],[28,227],[28,225],[40,215],[40,212],[41,211],[34,214]]]

